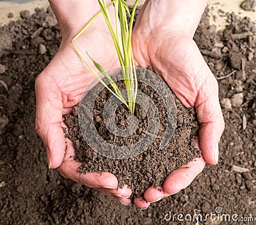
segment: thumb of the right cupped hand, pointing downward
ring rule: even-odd
[[[225,125],[218,98],[218,83],[212,74],[209,74],[205,79],[195,107],[200,121],[200,150],[202,150],[202,155],[209,164],[217,164],[218,143]]]

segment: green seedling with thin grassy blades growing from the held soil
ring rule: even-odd
[[[131,114],[134,114],[135,109],[135,103],[136,103],[136,97],[138,92],[138,81],[137,81],[137,75],[136,75],[136,68],[134,63],[134,58],[132,54],[132,45],[131,45],[131,37],[132,37],[132,26],[134,22],[134,15],[136,12],[136,7],[138,4],[138,0],[135,1],[134,7],[132,8],[132,13],[130,14],[129,8],[124,0],[113,0],[108,5],[106,4],[105,0],[98,0],[99,6],[100,6],[100,12],[98,12],[89,22],[84,26],[84,28],[72,39],[72,46],[74,47],[74,50],[78,54],[78,56],[84,61],[84,65],[88,70],[99,80],[101,84],[104,85],[105,88],[107,88],[113,95],[115,95],[116,98],[118,98],[121,102],[123,102]],[[115,27],[114,29],[113,24],[111,24],[111,20],[109,18],[108,14],[108,7],[113,5],[115,7]],[[77,50],[76,46],[74,45],[74,42],[81,36],[84,31],[92,24],[93,20],[95,20],[100,13],[104,16],[104,19],[106,21],[106,24],[108,25],[109,33],[111,34],[111,37],[113,39],[113,42],[115,44],[115,49],[118,55],[118,59],[120,62],[120,67],[122,68],[122,74],[124,76],[124,82],[125,82],[125,88],[127,90],[127,98],[128,98],[128,104],[124,100],[124,97],[122,96],[120,89],[118,89],[118,86],[116,86],[115,82],[111,79],[111,76],[108,74],[108,72],[104,69],[103,66],[101,66],[99,63],[97,63],[95,60],[92,59],[92,57],[88,57],[92,60],[93,65],[99,70],[100,74],[103,74],[109,81],[109,84],[113,88],[114,91],[112,91],[111,88],[108,87],[108,85],[100,78],[100,76],[95,72],[95,70],[90,66],[88,61],[82,56],[82,54]],[[127,14],[131,17],[130,24],[127,20]]]

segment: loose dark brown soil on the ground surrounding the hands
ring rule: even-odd
[[[215,33],[204,17],[195,35],[220,84],[226,121],[220,163],[206,166],[186,190],[147,210],[121,205],[47,169],[34,128],[34,82],[58,50],[60,31],[51,10],[36,10],[31,18],[1,27],[0,224],[168,224],[169,211],[214,213],[217,206],[223,213],[256,217],[255,26],[235,15],[228,22],[225,31]],[[234,166],[251,170],[241,173]]]

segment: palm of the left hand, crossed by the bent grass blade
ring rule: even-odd
[[[78,104],[84,88],[88,82],[94,78],[88,70],[84,67],[83,61],[79,59],[76,52],[70,45],[71,41],[63,43],[58,51],[56,57],[49,65],[49,70],[56,70],[54,74],[54,81],[58,84],[63,98],[63,107],[68,108]],[[82,35],[75,45],[81,49],[81,53],[85,58],[86,52],[92,56],[95,61],[98,61],[106,70],[118,66],[116,53],[111,37],[98,31],[90,31],[89,34]],[[83,50],[82,50],[83,49]],[[102,57],[102,52],[108,52]],[[116,60],[115,60],[116,58]],[[114,60],[113,60],[114,59]],[[88,60],[89,61],[89,60]],[[54,67],[51,65],[54,65]],[[97,69],[94,68],[97,72]],[[46,70],[47,72],[47,70]]]

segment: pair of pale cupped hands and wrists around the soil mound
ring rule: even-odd
[[[77,173],[74,147],[63,134],[63,114],[79,103],[84,88],[93,75],[71,46],[71,40],[95,13],[97,1],[52,0],[52,9],[60,23],[63,40],[58,53],[36,79],[36,130],[47,147],[49,167],[78,183],[115,196],[129,205],[131,189],[116,189],[118,180],[110,173]],[[162,191],[148,187],[143,198],[134,199],[139,208],[166,198],[188,187],[202,172],[205,163],[218,163],[218,143],[224,121],[218,100],[218,83],[193,41],[205,0],[148,0],[143,5],[132,33],[136,65],[151,66],[172,88],[186,107],[195,107],[200,120],[198,147],[202,157],[173,171]],[[115,18],[113,8],[109,14]],[[82,52],[90,52],[106,70],[118,67],[118,58],[108,27],[99,16],[76,43]],[[103,52],[103,53],[102,53]],[[95,69],[96,70],[96,69]],[[65,143],[67,142],[67,143]],[[65,151],[67,144],[67,151]],[[70,156],[72,156],[70,158]]]

